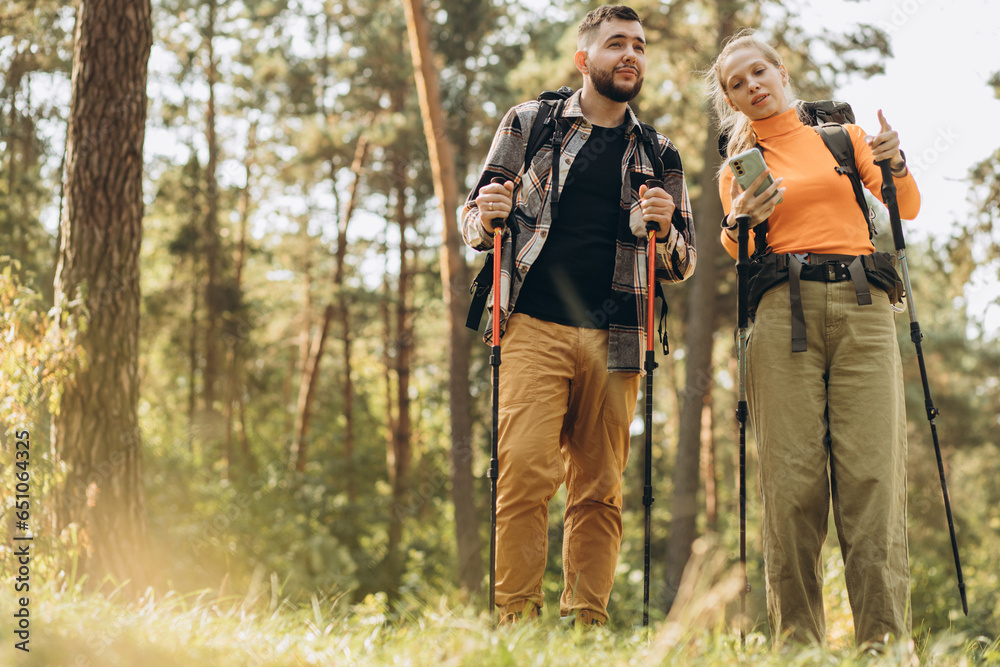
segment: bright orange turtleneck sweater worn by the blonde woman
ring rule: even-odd
[[[784,177],[783,201],[768,219],[767,241],[776,253],[867,255],[875,247],[868,238],[868,225],[847,176],[838,174],[837,161],[822,137],[799,121],[795,109],[752,121],[764,162],[774,178]],[[854,158],[861,181],[882,198],[882,172],[875,164],[865,132],[857,125],[844,125],[854,144]],[[732,209],[729,189],[733,180],[728,168],[719,178],[719,196],[726,215]],[[920,193],[909,170],[894,178],[900,217],[912,220],[920,210]],[[736,257],[736,241],[722,231],[726,252]],[[750,249],[754,238],[751,231]]]

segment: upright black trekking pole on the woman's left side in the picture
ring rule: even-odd
[[[750,319],[750,216],[736,216],[736,326],[739,329],[737,364],[740,375],[740,399],[736,404],[736,420],[740,423],[740,646],[746,645],[747,593],[747,326]]]

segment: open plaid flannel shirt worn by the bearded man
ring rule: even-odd
[[[564,138],[560,149],[559,191],[562,194],[566,177],[573,161],[583,148],[593,126],[584,118],[580,108],[581,90],[566,100],[563,112]],[[500,280],[500,330],[503,332],[507,315],[517,303],[524,277],[538,258],[552,226],[549,175],[552,169],[552,142],[547,142],[532,158],[524,170],[527,134],[538,114],[540,103],[531,100],[509,110],[493,137],[486,166],[479,183],[469,193],[462,207],[462,235],[475,250],[492,250],[493,237],[483,229],[476,196],[479,189],[494,176],[514,181],[518,186],[514,219],[518,234],[512,247],[510,230],[504,232],[501,248]],[[618,225],[618,247],[612,281],[616,304],[609,309],[608,370],[640,372],[646,349],[646,248],[648,242],[643,232],[642,210],[639,208],[639,186],[654,175],[647,151],[642,146],[642,126],[631,108],[626,114],[628,145],[622,159],[621,215]],[[684,170],[677,149],[662,134],[657,134],[663,161],[664,189],[673,197],[676,209],[673,224],[666,239],[656,244],[656,278],[661,282],[680,282],[694,273],[697,262],[695,251],[694,220],[688,198]],[[632,230],[638,230],[637,237]],[[513,261],[512,261],[513,259]],[[516,274],[512,280],[512,270]],[[497,289],[497,285],[493,286]],[[488,301],[492,304],[492,298]],[[484,340],[492,343],[492,318],[486,325]],[[502,335],[502,334],[501,334]]]

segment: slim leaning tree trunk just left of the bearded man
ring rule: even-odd
[[[448,141],[438,73],[428,37],[423,0],[404,0],[406,27],[413,59],[413,75],[420,100],[424,136],[434,174],[434,194],[444,217],[441,280],[448,307],[449,380],[451,404],[451,496],[455,506],[458,544],[458,579],[467,591],[478,591],[483,578],[479,525],[476,519],[472,476],[472,408],[469,392],[469,332],[465,329],[464,298],[469,284],[463,242],[458,230],[458,181],[451,143]]]

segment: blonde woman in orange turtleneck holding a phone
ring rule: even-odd
[[[894,270],[875,253],[851,179],[800,119],[775,49],[737,36],[710,83],[728,155],[756,146],[769,168],[744,192],[724,166],[719,193],[729,254],[736,257],[738,216],[749,217],[751,244],[761,248],[751,262],[747,390],[772,633],[825,640],[821,550],[832,498],[858,643],[906,640],[906,415]],[[913,218],[916,183],[881,111],[878,120],[874,136],[844,126],[857,172],[878,196],[875,161],[889,160],[902,217]],[[773,184],[755,196],[767,173]]]

